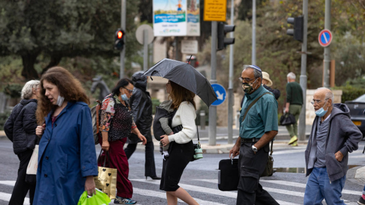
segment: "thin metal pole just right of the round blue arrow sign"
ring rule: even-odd
[[[231,25],[234,22],[234,0],[231,0]],[[233,38],[233,32],[230,32]],[[233,44],[229,47],[229,81],[228,81],[228,144],[233,143]]]

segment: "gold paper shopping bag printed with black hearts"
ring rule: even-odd
[[[100,159],[101,152],[99,154],[98,161]],[[112,169],[105,167],[105,161],[106,159],[109,159],[109,153],[106,153],[106,156],[104,157],[104,163],[103,166],[98,166],[98,175],[97,177],[94,177],[95,181],[95,187],[96,189],[99,189],[101,192],[104,192],[108,195],[110,199],[115,198],[116,193],[116,175],[117,175],[117,169]]]

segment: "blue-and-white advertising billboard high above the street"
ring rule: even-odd
[[[199,36],[199,0],[153,0],[154,36]]]

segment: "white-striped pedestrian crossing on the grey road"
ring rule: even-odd
[[[166,194],[159,189],[159,180],[131,178],[130,181],[133,183],[133,199],[138,201],[137,205],[166,204]],[[217,183],[217,179],[183,179],[179,185],[187,190],[200,205],[235,204],[237,191],[222,192],[218,189]],[[281,205],[303,204],[305,183],[272,180],[270,178],[262,178],[260,183]],[[3,187],[9,188],[14,184],[15,181],[11,180],[0,181],[0,191],[5,190]],[[12,188],[7,190],[12,190]],[[342,199],[347,205],[357,205],[356,201],[361,194],[360,190],[343,189]],[[7,205],[10,197],[11,193],[0,192],[0,205]],[[30,203],[27,197],[24,205],[28,204]],[[113,204],[113,201],[110,204]],[[185,203],[178,200],[178,204]]]

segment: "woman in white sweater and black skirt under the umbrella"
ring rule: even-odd
[[[194,154],[192,138],[196,134],[195,94],[172,81],[166,84],[166,91],[172,100],[171,108],[176,111],[171,126],[174,128],[182,125],[183,129],[173,135],[161,136],[163,146],[170,144],[170,153],[162,165],[160,189],[166,191],[168,205],[176,205],[177,198],[189,205],[196,205],[198,203],[193,197],[178,186],[181,175]]]

